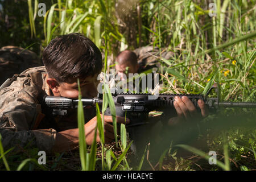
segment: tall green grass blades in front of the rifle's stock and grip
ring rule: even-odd
[[[119,167],[119,164],[122,162],[122,160],[125,160],[125,155],[127,153],[127,151],[129,150],[131,143],[129,144],[129,146],[127,146],[127,138],[126,138],[126,129],[125,127],[121,126],[121,138],[122,138],[122,144],[121,144],[121,148],[122,148],[122,154],[119,155],[119,158],[117,159],[117,157],[113,154],[113,151],[110,150],[106,150],[105,148],[105,142],[104,142],[104,118],[102,114],[102,119],[101,119],[101,114],[100,114],[100,107],[98,106],[98,104],[96,104],[96,116],[97,116],[97,127],[95,128],[95,133],[94,133],[94,139],[93,139],[93,143],[90,146],[90,152],[88,152],[88,148],[86,145],[86,137],[85,137],[85,121],[84,121],[84,108],[82,106],[82,102],[81,102],[81,90],[80,90],[80,82],[78,80],[78,85],[79,85],[79,105],[77,107],[77,115],[78,115],[78,127],[79,127],[79,152],[80,152],[80,160],[81,160],[81,168],[83,171],[94,171],[96,170],[96,160],[99,160],[96,158],[96,152],[97,152],[97,143],[96,143],[96,136],[97,136],[97,130],[98,133],[100,135],[100,140],[101,140],[101,148],[102,148],[102,155],[101,155],[101,160],[102,160],[102,170],[107,169],[107,170],[115,170]],[[105,86],[108,87],[108,86]],[[109,92],[110,93],[110,92]],[[112,101],[109,101],[112,100]],[[112,97],[106,97],[105,103],[112,103],[113,102],[113,98]],[[104,105],[104,103],[102,104]],[[108,104],[106,104],[106,106],[108,106]],[[114,105],[109,104],[110,109],[113,113],[113,110],[115,110]],[[115,113],[112,115],[112,117],[115,118]],[[116,119],[113,121],[113,123],[115,122],[116,125]],[[114,131],[115,136],[117,135],[117,131],[115,129]],[[127,146],[127,147],[126,147]],[[104,159],[104,156],[106,156],[106,159]],[[111,159],[113,158],[113,159]],[[112,167],[112,161],[115,160],[115,164]],[[126,160],[125,160],[126,161]],[[127,165],[127,161],[126,161],[126,165]],[[129,167],[126,167],[128,168]]]

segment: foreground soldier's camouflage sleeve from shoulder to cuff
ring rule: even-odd
[[[28,77],[18,77],[13,84],[0,90],[0,134],[5,150],[38,147],[51,151],[56,131],[31,130],[38,115],[39,90]]]

